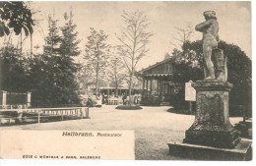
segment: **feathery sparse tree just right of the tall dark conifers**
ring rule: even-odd
[[[110,45],[107,44],[108,35],[103,30],[96,31],[95,28],[91,28],[91,35],[88,36],[88,42],[86,44],[86,72],[92,82],[96,84],[96,94],[98,93],[98,84],[102,81],[106,75],[106,67],[109,60]]]

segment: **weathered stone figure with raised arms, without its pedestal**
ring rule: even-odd
[[[203,32],[205,81],[226,82],[226,58],[223,50],[218,48],[220,37],[216,13],[214,11],[206,11],[204,12],[204,17],[206,22],[197,25],[196,30]]]

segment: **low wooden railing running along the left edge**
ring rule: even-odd
[[[1,115],[4,115],[4,112],[17,112],[17,116],[9,116],[0,118],[1,120],[11,121],[18,119],[37,119],[37,122],[40,123],[41,118],[52,118],[52,117],[61,117],[63,121],[65,117],[77,117],[77,118],[89,118],[89,107],[69,107],[69,108],[30,108],[30,109],[1,109]],[[30,114],[29,117],[24,117],[25,113]],[[34,115],[33,115],[34,114]]]

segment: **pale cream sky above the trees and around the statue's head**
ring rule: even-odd
[[[78,38],[81,39],[82,55],[85,53],[87,36],[90,28],[103,29],[109,35],[110,44],[118,44],[116,34],[122,26],[122,11],[132,13],[143,11],[148,16],[154,32],[150,39],[150,52],[138,64],[137,70],[160,62],[164,55],[171,53],[178,41],[178,30],[187,24],[195,27],[204,22],[203,12],[214,10],[220,25],[220,37],[227,43],[238,45],[251,58],[251,5],[250,2],[30,2],[33,10],[40,11],[34,18],[38,26],[34,28],[33,45],[39,45],[41,50],[44,36],[47,34],[47,17],[55,13],[59,26],[64,25],[63,14],[72,8],[74,23],[77,24]],[[201,39],[202,34],[195,32],[192,40]],[[25,47],[29,47],[29,39]]]

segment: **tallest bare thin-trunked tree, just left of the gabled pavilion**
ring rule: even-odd
[[[141,58],[149,52],[147,46],[153,33],[149,31],[150,22],[142,12],[128,14],[124,11],[121,17],[124,27],[121,28],[121,34],[117,37],[120,41],[118,49],[128,70],[129,104],[131,105],[132,83],[136,66]]]

